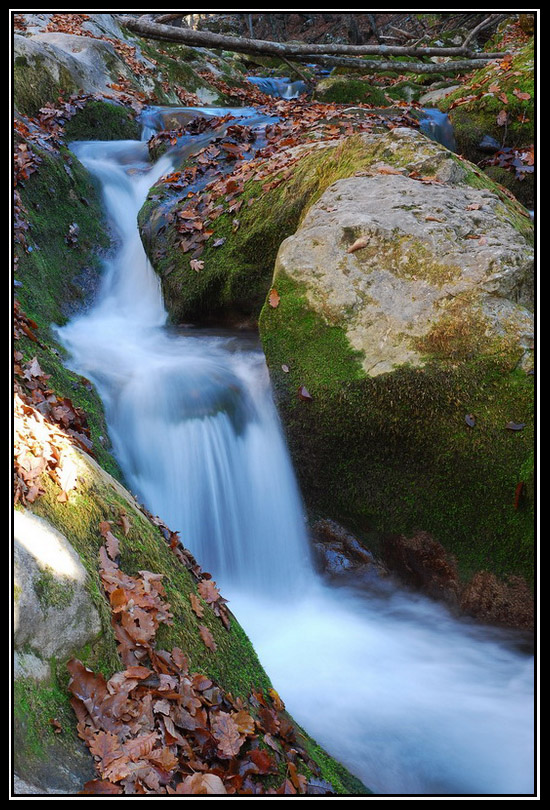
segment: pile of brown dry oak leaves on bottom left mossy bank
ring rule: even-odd
[[[172,622],[162,577],[124,574],[113,522],[99,530],[105,539],[100,574],[125,669],[105,680],[76,659],[68,663],[78,732],[98,771],[82,793],[333,794],[330,784],[311,775],[317,766],[274,690],[269,696],[253,693],[245,702],[190,673],[178,647],[156,649],[159,626]],[[198,592],[200,599],[192,596],[201,611],[220,602],[211,580],[202,580]]]

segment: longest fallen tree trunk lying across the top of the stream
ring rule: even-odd
[[[334,43],[327,45],[315,45],[307,43],[283,44],[281,42],[272,42],[263,39],[245,39],[243,37],[225,36],[222,34],[214,34],[211,31],[196,31],[192,28],[174,28],[173,26],[150,22],[149,20],[144,20],[143,18],[136,19],[135,17],[127,17],[124,15],[119,17],[119,22],[126,26],[126,28],[128,28],[130,31],[134,31],[137,34],[141,34],[141,36],[150,39],[181,42],[184,45],[235,51],[237,53],[279,57],[286,56],[290,59],[296,59],[302,56],[320,57],[344,54],[346,56],[466,56],[472,61],[479,60],[480,62],[483,62],[488,61],[489,57],[495,59],[505,56],[504,53],[478,54],[476,52],[469,51],[464,46],[458,48],[414,48],[400,45],[341,45]],[[406,62],[403,62],[400,67],[403,67],[406,64]],[[393,67],[395,67],[395,65],[393,65]],[[382,69],[388,70],[389,68]],[[419,72],[418,69],[408,69],[411,72]],[[435,73],[437,71],[431,72]]]

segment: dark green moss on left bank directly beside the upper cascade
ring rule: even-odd
[[[33,147],[34,148],[34,147]],[[108,452],[107,426],[99,396],[91,383],[63,365],[64,350],[55,338],[53,324],[63,324],[95,289],[100,267],[98,248],[109,243],[101,201],[88,172],[67,149],[59,154],[38,152],[38,171],[20,188],[29,222],[30,250],[19,246],[17,277],[22,282],[18,298],[23,311],[38,324],[39,343],[22,338],[17,348],[24,360],[37,357],[50,374],[49,384],[60,397],[82,408],[90,427],[94,452],[114,475],[120,471]],[[78,225],[76,244],[65,237]]]

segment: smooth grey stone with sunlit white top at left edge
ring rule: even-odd
[[[14,645],[41,660],[63,659],[101,632],[87,591],[87,574],[69,541],[30,512],[14,514]],[[48,677],[32,659],[19,660],[21,674]]]

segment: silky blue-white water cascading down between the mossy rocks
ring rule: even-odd
[[[511,633],[314,572],[294,473],[251,339],[166,326],[137,212],[170,170],[144,143],[73,145],[118,235],[91,308],[59,329],[102,396],[130,489],[230,599],[294,717],[382,794],[533,791],[533,661]]]

